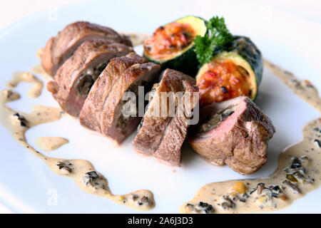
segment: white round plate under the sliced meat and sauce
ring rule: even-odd
[[[321,25],[290,12],[258,5],[255,1],[239,4],[237,1],[210,4],[197,1],[90,1],[54,11],[44,11],[12,24],[0,33],[0,88],[14,71],[29,71],[39,63],[35,52],[56,35],[66,24],[87,20],[111,26],[117,31],[152,33],[168,21],[188,14],[205,19],[214,14],[225,16],[233,33],[250,36],[268,60],[309,79],[321,89]],[[153,2],[154,3],[154,2]],[[51,13],[51,14],[49,14]],[[53,19],[55,19],[56,21]],[[40,98],[31,99],[26,91],[31,85],[21,84],[17,90],[21,100],[11,107],[30,111],[31,105],[57,105],[45,89]],[[298,142],[302,126],[317,118],[319,113],[292,93],[270,72],[264,72],[257,100],[270,116],[277,133],[270,141],[267,164],[254,175],[267,177],[277,167],[277,157],[287,145]],[[73,180],[51,172],[41,160],[19,145],[0,127],[1,165],[0,202],[14,212],[138,212],[114,204],[108,199],[89,195],[80,190]],[[56,123],[39,125],[29,130],[27,139],[34,145],[40,136],[62,136],[70,143],[50,152],[53,157],[82,158],[90,160],[108,179],[115,194],[148,189],[156,199],[153,213],[177,213],[181,204],[209,182],[241,179],[242,175],[228,167],[216,167],[203,161],[195,152],[183,149],[182,167],[168,167],[152,157],[141,157],[133,152],[133,135],[121,147],[81,128],[78,120],[63,118]],[[176,172],[173,172],[175,170]],[[58,204],[49,206],[51,190],[58,194]],[[320,212],[321,189],[310,192],[291,207],[277,212]]]

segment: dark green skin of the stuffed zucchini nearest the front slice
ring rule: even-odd
[[[246,36],[234,36],[233,44],[228,51],[238,53],[250,64],[256,76],[257,87],[259,87],[263,75],[263,58],[257,46]]]

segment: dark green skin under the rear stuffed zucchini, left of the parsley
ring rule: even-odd
[[[158,61],[153,61],[153,59],[148,58],[148,56],[144,57],[147,58],[148,61],[160,64]],[[198,73],[198,59],[196,58],[194,46],[189,48],[182,55],[161,63],[161,71],[165,70],[166,68],[180,71],[195,78],[196,73]]]

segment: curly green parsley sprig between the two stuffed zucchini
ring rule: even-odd
[[[206,21],[208,33],[194,39],[196,57],[201,65],[210,62],[215,51],[223,49],[233,42],[233,35],[228,31],[223,17],[213,16]]]

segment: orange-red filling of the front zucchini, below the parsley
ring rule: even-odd
[[[222,102],[240,95],[251,96],[248,71],[233,61],[210,63],[210,68],[197,80],[200,88],[200,105]]]

